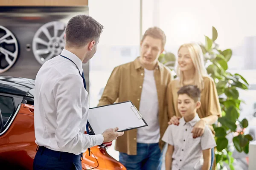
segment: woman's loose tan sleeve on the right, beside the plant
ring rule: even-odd
[[[206,88],[205,100],[207,101],[206,103],[208,103],[206,107],[206,116],[217,115],[218,117],[221,117],[220,101],[218,99],[215,82],[212,78],[209,77],[205,79],[204,88]]]

